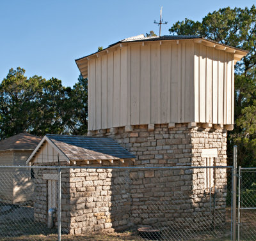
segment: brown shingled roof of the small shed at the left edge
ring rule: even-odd
[[[0,151],[3,150],[34,150],[42,138],[29,133],[6,138],[0,141]]]

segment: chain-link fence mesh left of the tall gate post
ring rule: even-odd
[[[230,239],[229,173],[216,167],[66,166],[61,168],[59,209],[58,168],[1,167],[0,239],[57,239],[58,210],[61,236],[67,238]]]

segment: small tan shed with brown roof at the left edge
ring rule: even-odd
[[[41,138],[20,133],[0,141],[0,165],[24,166]],[[20,203],[31,200],[31,170],[1,168],[0,200],[4,203]]]

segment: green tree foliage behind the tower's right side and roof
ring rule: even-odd
[[[185,19],[169,29],[171,34],[200,35],[225,45],[248,50],[236,64],[234,131],[228,134],[228,151],[239,147],[239,164],[256,166],[256,9],[222,8],[201,22]]]

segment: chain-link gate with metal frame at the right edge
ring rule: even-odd
[[[238,179],[238,240],[256,239],[256,168],[241,168]]]

